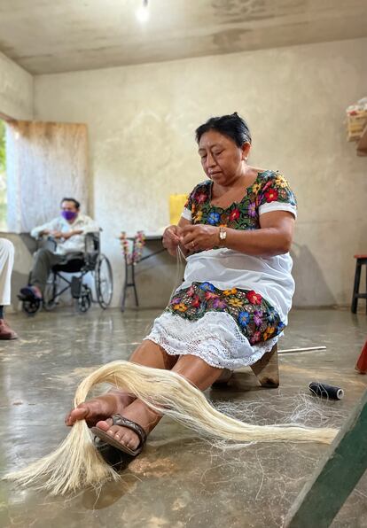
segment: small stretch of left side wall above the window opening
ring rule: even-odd
[[[33,77],[0,53],[0,113],[14,119],[33,117]]]

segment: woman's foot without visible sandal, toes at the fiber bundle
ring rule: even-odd
[[[89,427],[93,427],[112,415],[122,415],[123,410],[134,400],[132,394],[112,390],[78,405],[66,415],[65,423],[71,427],[78,420],[85,420]]]

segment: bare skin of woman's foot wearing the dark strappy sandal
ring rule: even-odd
[[[138,423],[143,427],[146,434],[152,431],[157,423],[160,421],[161,415],[158,415],[151,408],[146,406],[143,401],[134,400],[129,407],[125,408],[123,412],[119,413],[124,418]],[[137,433],[131,431],[127,427],[121,425],[113,425],[111,418],[107,420],[101,420],[96,423],[96,427],[105,431],[108,436],[120,442],[123,446],[127,446],[130,449],[137,449],[140,443],[140,439]]]

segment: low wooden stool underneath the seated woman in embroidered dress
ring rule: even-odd
[[[256,361],[254,365],[250,366],[262,387],[276,389],[279,386],[277,344],[274,345],[269,352],[264,353],[259,361]],[[231,376],[231,370],[223,369],[223,374],[221,374],[221,377],[219,377],[212,386],[220,387],[221,385],[228,384]]]

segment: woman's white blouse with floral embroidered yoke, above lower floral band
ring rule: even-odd
[[[244,197],[227,208],[212,205],[212,185],[213,182],[207,180],[192,190],[183,208],[183,218],[193,224],[261,229],[261,214],[280,210],[294,217],[297,215],[293,191],[285,177],[275,171],[258,173],[254,183],[244,190]],[[222,291],[231,288],[256,291],[277,310],[286,324],[294,291],[291,270],[289,253],[265,258],[214,248],[187,257],[184,280],[176,294],[191,284],[207,282]]]

